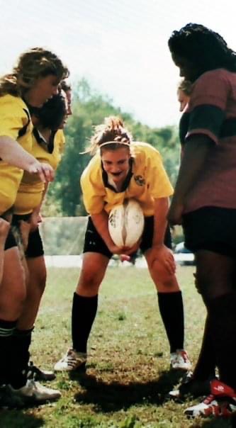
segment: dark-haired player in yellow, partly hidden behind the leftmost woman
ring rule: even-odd
[[[40,162],[47,162],[55,170],[60,163],[64,150],[64,128],[67,117],[67,102],[64,94],[57,94],[45,103],[35,118],[33,130],[33,155]],[[37,123],[37,128],[36,128]],[[59,129],[60,128],[60,129]],[[14,232],[20,234],[20,245],[25,245],[27,265],[27,296],[21,316],[18,319],[14,339],[18,347],[17,364],[21,370],[30,372],[35,380],[50,381],[55,374],[29,364],[29,347],[33,325],[38,313],[40,299],[45,290],[46,267],[43,242],[38,229],[40,205],[47,184],[37,176],[24,172],[14,204],[12,223]],[[30,230],[29,235],[23,232],[22,226]]]

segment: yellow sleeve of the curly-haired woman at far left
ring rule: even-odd
[[[17,140],[19,130],[28,123],[23,101],[15,96],[0,97],[0,115],[0,136],[6,135]]]

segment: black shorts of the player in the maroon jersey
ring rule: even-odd
[[[236,256],[236,209],[203,207],[183,215],[185,245],[191,252],[201,249]]]

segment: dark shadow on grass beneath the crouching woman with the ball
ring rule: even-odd
[[[162,405],[167,400],[167,394],[183,376],[180,371],[162,372],[157,381],[106,383],[97,380],[86,372],[70,373],[73,381],[78,381],[84,391],[75,395],[80,403],[94,404],[102,412],[116,412],[128,409],[138,403]]]

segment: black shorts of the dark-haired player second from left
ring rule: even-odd
[[[28,221],[30,219],[30,214],[26,215],[13,215],[12,224],[13,227],[16,227],[19,230],[20,227],[20,221]],[[38,230],[38,227],[33,232],[30,232],[28,235],[28,247],[25,251],[26,257],[40,257],[43,256],[43,241],[40,237],[40,232]]]

